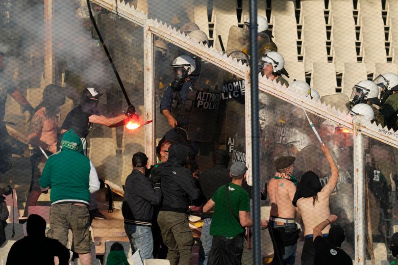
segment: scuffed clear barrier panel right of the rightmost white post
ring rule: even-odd
[[[374,139],[363,137],[365,175],[366,259],[390,260],[393,258],[390,239],[396,232],[398,208],[396,184],[398,183],[397,149]]]

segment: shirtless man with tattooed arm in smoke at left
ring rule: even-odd
[[[34,148],[31,155],[32,181],[29,195],[26,200],[23,216],[28,216],[28,207],[36,205],[40,194],[48,189],[42,190],[39,178],[44,169],[46,157],[40,147],[46,152],[47,156],[57,152],[57,128],[59,107],[65,103],[65,96],[62,88],[57,85],[48,85],[43,90],[43,99],[35,108],[31,116],[28,143]]]

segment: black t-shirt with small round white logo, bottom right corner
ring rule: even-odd
[[[353,260],[344,252],[344,250],[337,248],[330,244],[328,240],[320,235],[314,241],[314,265],[352,265]]]

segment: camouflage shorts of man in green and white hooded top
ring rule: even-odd
[[[74,251],[79,254],[90,253],[90,213],[88,207],[69,203],[54,204],[50,208],[50,224],[47,236],[62,245],[68,244],[68,230],[72,230]]]

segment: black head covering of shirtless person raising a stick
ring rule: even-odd
[[[294,207],[297,207],[297,201],[300,198],[309,198],[315,196],[321,190],[322,185],[320,184],[318,175],[312,171],[304,173],[299,184],[297,184],[297,190],[294,194],[292,201]]]

